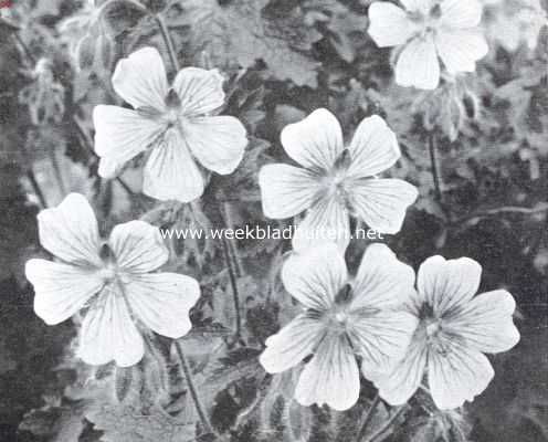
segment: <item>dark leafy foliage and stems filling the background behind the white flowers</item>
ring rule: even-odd
[[[508,50],[492,40],[476,75],[422,93],[393,84],[390,51],[379,50],[366,32],[368,0],[145,1],[165,18],[181,65],[225,73],[224,112],[251,135],[242,165],[230,177],[212,178],[196,217],[140,194],[139,159],[116,180],[97,176],[91,112],[95,104],[122,104],[109,84],[116,61],[144,44],[157,46],[168,61],[150,14],[131,1],[105,3],[15,1],[0,19],[1,441],[197,439],[199,419],[169,343],[155,337],[155,350],[136,368],[92,369],[74,357],[77,320],[46,327],[34,316],[22,269],[29,256],[43,253],[35,214],[78,191],[94,203],[104,231],[134,218],[165,228],[278,225],[262,215],[257,169],[284,158],[280,130],[320,106],[336,113],[347,134],[373,113],[398,134],[403,157],[393,175],[421,194],[402,232],[388,240],[401,260],[417,269],[436,253],[471,256],[484,267],[483,290],[505,287],[518,303],[521,341],[493,358],[495,380],[466,415],[436,413],[418,394],[405,422],[387,438],[548,440],[546,27],[538,35],[526,27],[534,48]],[[496,38],[504,8],[526,3],[534,1],[489,6],[488,35]],[[436,134],[442,199],[433,191],[429,130]],[[363,383],[360,402],[345,413],[302,408],[292,401],[296,373],[266,376],[256,360],[264,339],[294,316],[277,278],[289,244],[229,245],[239,315],[221,243],[176,241],[168,264],[202,285],[193,330],[181,341],[221,440],[352,440],[371,386]],[[351,267],[365,246],[351,245]],[[232,338],[236,316],[240,340]],[[373,421],[387,412],[379,408]]]

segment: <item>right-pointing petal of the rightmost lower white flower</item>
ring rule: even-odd
[[[519,341],[512,315],[514,297],[504,290],[475,296],[453,318],[444,322],[444,330],[466,340],[466,345],[486,352],[507,351]]]

